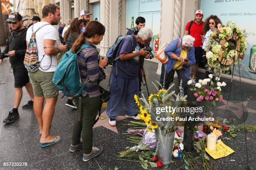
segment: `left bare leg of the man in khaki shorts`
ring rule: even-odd
[[[43,131],[43,109],[44,109],[44,96],[43,97],[34,97],[34,112],[36,119],[40,127],[40,133]]]

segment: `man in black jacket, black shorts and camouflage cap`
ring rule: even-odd
[[[13,110],[11,110],[8,117],[3,120],[4,123],[11,123],[19,118],[18,107],[23,95],[22,87],[26,87],[31,98],[26,105],[22,106],[23,109],[33,107],[34,95],[31,83],[29,82],[28,71],[23,64],[27,48],[27,28],[22,25],[22,16],[19,13],[10,13],[7,21],[13,31],[9,35],[5,50],[1,53],[0,64],[5,57],[9,57],[11,67],[13,68],[15,88]]]

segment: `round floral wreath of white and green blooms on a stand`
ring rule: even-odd
[[[246,32],[234,22],[215,29],[205,47],[208,65],[220,72],[228,71],[230,65],[236,65],[238,60],[243,60],[245,50]]]

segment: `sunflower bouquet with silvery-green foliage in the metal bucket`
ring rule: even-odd
[[[156,89],[158,89],[155,84],[154,86]],[[152,130],[156,130],[157,138],[159,138],[159,141],[161,142],[163,142],[163,135],[173,133],[175,131],[176,122],[164,121],[160,118],[175,117],[178,116],[179,113],[174,113],[171,110],[165,110],[164,112],[161,110],[160,112],[159,108],[179,106],[184,103],[187,97],[184,96],[182,82],[179,85],[178,94],[175,94],[174,90],[169,92],[173,86],[174,84],[172,84],[167,90],[164,88],[158,90],[156,94],[151,94],[148,99],[146,99],[143,94],[141,98],[138,97],[138,95],[134,95],[134,99],[140,108],[140,114],[138,114],[138,116],[141,118],[141,120],[145,121],[146,125],[148,125],[148,131],[152,132]]]

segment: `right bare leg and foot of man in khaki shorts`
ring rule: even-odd
[[[40,143],[50,143],[54,140],[54,136],[50,135],[51,121],[54,116],[54,110],[58,97],[46,98],[46,104],[43,110],[43,131]],[[56,140],[59,140],[59,136]]]

